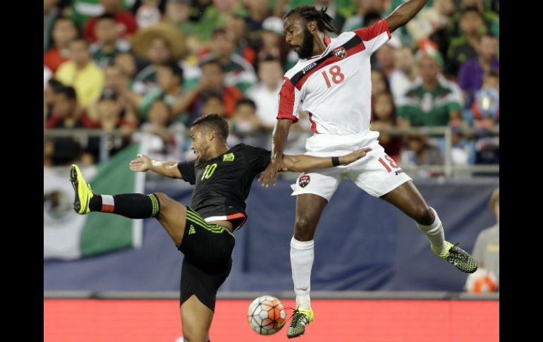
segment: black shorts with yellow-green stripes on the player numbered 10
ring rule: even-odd
[[[232,250],[236,241],[226,228],[208,224],[187,207],[185,233],[179,250],[183,252],[180,305],[191,295],[213,312],[216,291],[232,268]]]

